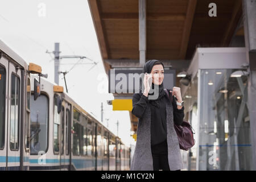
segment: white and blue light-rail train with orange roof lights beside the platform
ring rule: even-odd
[[[129,170],[130,147],[0,40],[0,170]]]

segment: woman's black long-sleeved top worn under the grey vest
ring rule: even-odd
[[[136,117],[141,118],[147,105],[150,104],[151,145],[159,144],[167,139],[166,103],[170,102],[170,100],[165,94],[159,101],[160,107],[156,108],[150,104],[148,97],[143,94],[135,93],[133,95],[133,110],[131,112]],[[174,122],[176,125],[181,125],[184,118],[184,106],[181,109],[177,109],[176,102],[173,102],[172,105],[174,106]]]

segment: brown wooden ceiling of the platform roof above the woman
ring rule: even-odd
[[[138,0],[88,2],[106,73],[106,59],[139,60]],[[216,17],[208,15],[209,3],[216,3]],[[183,64],[197,46],[228,47],[241,15],[241,0],[147,0],[146,59]]]

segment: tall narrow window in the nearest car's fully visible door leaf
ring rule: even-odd
[[[11,74],[10,148],[19,150],[19,78]]]

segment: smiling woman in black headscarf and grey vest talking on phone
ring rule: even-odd
[[[176,97],[171,104],[164,92],[164,65],[158,60],[150,60],[143,67],[144,92],[133,95],[133,110],[138,120],[137,142],[131,161],[131,170],[175,171],[183,168],[179,141],[174,129],[181,125],[184,107],[180,88],[174,87],[171,97]],[[152,81],[151,81],[152,80]],[[156,86],[155,86],[156,85]],[[154,93],[156,92],[156,93]],[[158,94],[156,99],[149,96]]]

